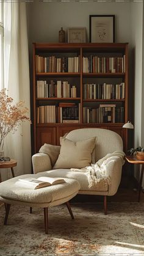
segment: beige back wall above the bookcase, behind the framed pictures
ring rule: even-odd
[[[60,27],[86,27],[89,40],[89,15],[115,14],[116,42],[130,42],[130,4],[118,2],[40,2],[29,7],[29,43],[58,42]]]

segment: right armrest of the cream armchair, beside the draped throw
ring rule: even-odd
[[[108,168],[107,175],[109,175],[109,192],[107,196],[113,196],[120,185],[121,181],[121,170],[123,163],[120,158],[113,159],[112,168]]]

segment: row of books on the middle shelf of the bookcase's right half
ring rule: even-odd
[[[87,99],[124,99],[124,82],[121,84],[84,84],[84,100]]]

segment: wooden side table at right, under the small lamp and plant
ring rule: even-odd
[[[142,190],[142,181],[143,181],[143,171],[144,171],[144,160],[138,160],[136,156],[125,156],[126,161],[130,164],[142,164],[142,169],[140,170],[140,181],[139,181],[139,197],[138,202],[140,202],[140,192]]]

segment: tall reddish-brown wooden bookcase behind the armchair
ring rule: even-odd
[[[95,61],[97,57],[98,63],[97,60]],[[52,58],[54,60],[53,64],[51,63]],[[57,59],[60,59],[60,61]],[[109,67],[107,67],[108,61]],[[58,64],[59,68],[57,69]],[[97,64],[99,70],[95,68]],[[53,65],[53,67],[50,67],[50,65]],[[109,71],[106,71],[108,69]],[[87,70],[87,72],[84,72],[85,70]],[[96,71],[93,72],[93,70]],[[59,81],[60,89],[58,89],[57,81]],[[63,86],[63,82],[65,82],[67,86]],[[42,89],[38,89],[38,83],[42,84]],[[115,87],[116,84],[121,85],[122,83],[124,83],[124,91],[121,96],[121,90],[119,90],[119,92],[116,90],[115,92]],[[84,98],[84,84],[96,84],[96,86],[100,84],[100,87],[103,88],[101,89],[100,96],[95,95],[96,98]],[[113,92],[110,91],[111,98],[108,98],[104,84],[111,84],[112,87],[114,87]],[[74,89],[75,97],[71,97],[72,86],[76,87],[76,89]],[[37,96],[40,95],[39,90],[42,90],[41,97]],[[87,95],[87,93],[89,92],[85,92],[85,95]],[[92,93],[90,97],[93,97],[94,92],[92,89],[90,93]],[[115,93],[119,93],[118,98],[115,96]],[[49,95],[51,97],[49,97]],[[59,97],[59,95],[62,97]],[[68,119],[68,123],[66,123],[66,121],[63,123],[63,114],[62,112],[60,114],[59,108],[60,103],[75,103],[79,108],[77,111],[79,117],[77,117],[77,114],[76,117],[73,114],[74,108],[71,110],[65,108],[64,111],[68,112],[65,114],[65,119]],[[89,122],[89,117],[84,117],[84,108],[89,109],[85,112],[88,113],[89,111],[91,113],[95,112],[92,109],[99,108],[100,104],[106,104],[107,106],[109,106],[109,104],[115,104],[115,109],[118,109],[118,113],[122,109],[123,114],[117,119],[118,122],[115,122],[116,119],[112,117],[112,113],[114,113],[113,111],[115,111],[115,109],[113,110],[109,107],[109,111],[107,111],[107,106],[106,108],[103,107],[103,111],[101,111],[103,112],[103,114],[101,114],[103,116],[101,117],[100,123]],[[52,112],[51,107],[46,108],[46,106],[56,106],[52,107],[52,111],[56,109],[55,118],[51,119],[52,117],[48,116],[52,115]],[[124,123],[128,122],[128,43],[34,43],[33,108],[34,153],[38,152],[39,148],[44,143],[59,145],[60,136],[63,136],[71,130],[87,127],[98,127],[115,131],[122,137],[124,150],[127,150],[128,134],[122,126]],[[48,112],[43,112],[43,123],[40,123],[40,116],[38,117],[38,111],[41,111],[41,109],[45,109],[45,111],[48,110]],[[109,115],[109,117],[107,117],[107,115]],[[55,119],[56,123],[54,123]],[[88,120],[89,123],[84,123],[85,119]],[[98,120],[93,117],[91,119],[94,121]],[[106,122],[104,122],[104,120],[106,120]]]

